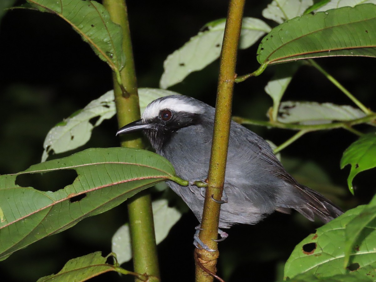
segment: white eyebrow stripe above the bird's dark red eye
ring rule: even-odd
[[[170,109],[175,112],[190,112],[198,113],[201,111],[200,107],[185,103],[179,98],[169,98],[152,102],[144,111],[142,115],[143,120],[158,117],[159,112],[164,109]]]

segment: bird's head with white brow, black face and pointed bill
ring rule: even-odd
[[[188,96],[171,95],[158,98],[145,109],[141,120],[118,130],[118,134],[142,130],[153,148],[159,151],[171,135],[181,128],[202,124],[214,108]]]

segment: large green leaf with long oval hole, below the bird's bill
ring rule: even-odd
[[[17,176],[75,170],[64,189],[39,191],[17,185]],[[48,235],[100,214],[141,190],[166,179],[178,179],[174,168],[155,153],[131,148],[88,149],[66,158],[32,165],[0,176],[0,260]],[[51,190],[53,187],[51,187]]]

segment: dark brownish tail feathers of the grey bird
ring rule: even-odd
[[[314,221],[316,215],[321,221],[327,223],[343,214],[340,207],[336,206],[320,193],[303,185],[298,186],[298,188],[301,191],[301,195],[307,200],[307,205],[296,210],[309,220]]]

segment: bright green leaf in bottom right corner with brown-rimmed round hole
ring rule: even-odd
[[[357,247],[352,250],[350,263],[344,267],[346,227],[364,210],[358,206],[317,229],[297,244],[285,264],[285,279],[298,274],[312,274],[320,279],[340,274],[356,274],[362,277],[376,275],[376,229],[362,232]]]

